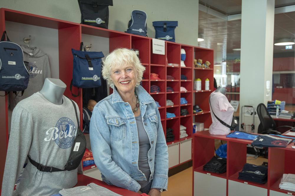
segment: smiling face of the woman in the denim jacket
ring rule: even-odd
[[[112,68],[111,78],[119,93],[133,93],[137,73],[132,64]]]

